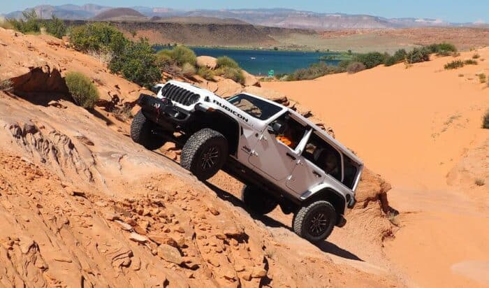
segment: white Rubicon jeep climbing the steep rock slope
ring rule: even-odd
[[[245,206],[261,215],[277,206],[294,213],[293,231],[309,241],[346,223],[363,162],[305,117],[251,94],[223,99],[173,80],[153,92],[138,99],[133,141],[149,150],[181,145],[180,165],[200,180],[222,168],[245,184]]]

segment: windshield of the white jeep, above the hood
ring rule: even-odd
[[[228,102],[259,120],[268,120],[282,110],[280,106],[273,105],[272,103],[247,94],[232,96],[228,99]]]

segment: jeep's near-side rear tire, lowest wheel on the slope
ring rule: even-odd
[[[320,220],[320,221],[319,221]],[[293,231],[312,243],[330,236],[337,221],[337,213],[328,201],[316,201],[302,206],[292,219]],[[321,224],[314,226],[314,224]]]

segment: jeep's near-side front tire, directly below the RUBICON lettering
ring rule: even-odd
[[[228,157],[226,137],[212,129],[202,129],[190,136],[182,148],[180,166],[199,180],[207,180],[219,171]]]

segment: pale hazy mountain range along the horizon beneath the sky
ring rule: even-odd
[[[102,17],[97,15],[106,10],[112,9],[107,6],[87,4],[84,6],[61,5],[51,6],[42,5],[34,7],[38,15],[49,18],[51,15],[66,20],[89,20],[104,19],[113,20],[117,17]],[[268,27],[301,28],[316,30],[334,29],[384,29],[384,28],[407,28],[407,27],[446,27],[446,26],[476,26],[476,24],[448,23],[436,19],[417,19],[417,18],[386,18],[372,15],[349,15],[343,13],[316,13],[285,8],[272,9],[224,9],[224,10],[175,10],[172,8],[151,8],[145,6],[132,7],[131,10],[138,11],[143,17],[152,17],[159,21],[166,18],[179,17],[200,17],[203,19],[233,19],[240,20],[255,25]],[[129,13],[129,12],[128,12]],[[133,12],[129,13],[133,18],[140,18]],[[8,13],[6,17],[22,17],[22,11]],[[132,18],[128,19],[131,20]],[[119,20],[122,19],[119,17]],[[126,20],[128,20],[126,19]],[[199,19],[199,18],[194,18]],[[207,21],[206,20],[206,21]]]

